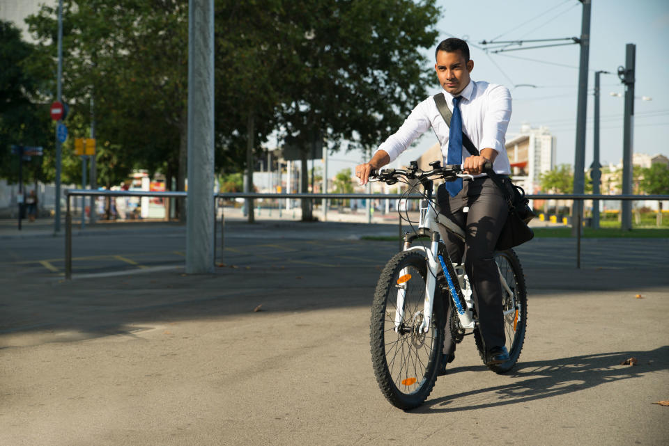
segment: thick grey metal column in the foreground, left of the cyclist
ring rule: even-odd
[[[188,2],[186,273],[214,271],[214,0]]]

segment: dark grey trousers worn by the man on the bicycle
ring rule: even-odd
[[[449,233],[445,244],[451,260],[465,264],[486,350],[501,347],[505,344],[502,284],[493,255],[509,213],[502,191],[489,177],[478,177],[463,180],[462,190],[454,197],[440,186],[437,200],[440,212],[466,234],[465,241],[461,241]],[[464,212],[466,207],[468,212]],[[449,305],[453,305],[451,299]],[[444,353],[454,353],[448,325],[446,330]]]

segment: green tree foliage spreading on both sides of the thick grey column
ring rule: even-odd
[[[372,148],[426,95],[435,0],[215,0],[215,159],[240,172],[268,136],[304,149]],[[27,19],[34,65],[55,90],[56,8]],[[185,175],[187,0],[63,1],[63,97],[72,136],[94,98],[98,177]],[[252,118],[252,119],[249,119]],[[306,157],[306,155],[305,155]],[[65,164],[68,157],[64,158]],[[303,175],[306,175],[307,171]],[[75,175],[72,172],[72,175]]]

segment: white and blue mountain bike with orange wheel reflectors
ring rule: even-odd
[[[391,257],[380,274],[371,307],[370,344],[374,374],[381,392],[391,404],[403,410],[420,406],[429,397],[437,379],[447,326],[452,339],[460,343],[474,335],[484,364],[486,351],[479,331],[472,289],[465,267],[451,262],[443,237],[446,232],[465,239],[464,231],[433,203],[433,180],[472,178],[460,166],[430,163],[432,170],[420,170],[413,161],[407,170],[373,171],[371,181],[387,184],[415,181],[406,195],[423,186],[420,219],[415,232],[406,232],[403,250]],[[491,165],[486,166],[488,169]],[[406,215],[408,219],[408,214]],[[412,246],[429,237],[429,246]],[[488,365],[502,374],[511,370],[523,349],[527,327],[527,292],[523,269],[514,250],[495,253],[502,282],[505,334],[510,359]],[[440,276],[443,272],[443,276]],[[447,301],[452,299],[452,305]]]

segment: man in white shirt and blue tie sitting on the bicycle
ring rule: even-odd
[[[486,161],[500,176],[511,172],[505,149],[505,134],[511,118],[511,94],[504,86],[470,79],[474,61],[469,58],[467,42],[449,38],[435,51],[434,65],[449,110],[447,125],[433,97],[418,104],[399,130],[379,146],[367,163],[355,168],[360,184],[367,184],[373,169],[396,159],[415,139],[430,127],[440,141],[445,164],[461,164],[473,180],[442,184],[437,200],[440,212],[456,222],[466,233],[465,241],[452,234],[445,237],[453,261],[462,259],[472,283],[472,296],[479,317],[479,329],[486,347],[486,364],[509,360],[505,347],[502,314],[502,287],[493,259],[495,244],[504,225],[508,206],[498,186],[483,173]],[[470,138],[478,156],[463,148],[463,132]],[[448,299],[449,305],[452,305]],[[439,374],[455,358],[455,343],[445,342]]]

